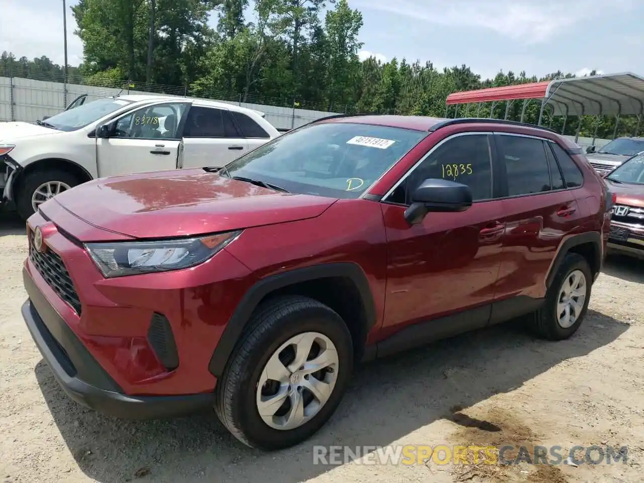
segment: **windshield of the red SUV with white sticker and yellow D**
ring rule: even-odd
[[[311,124],[254,149],[220,172],[290,193],[358,198],[426,135],[350,122]]]

